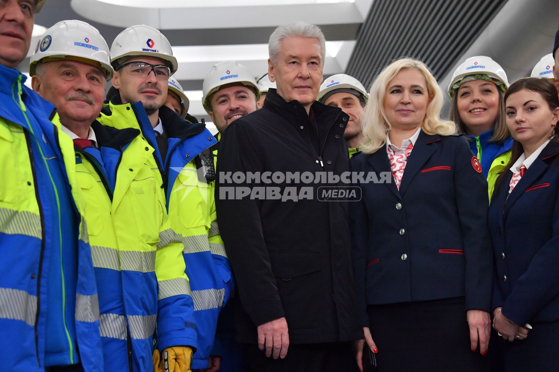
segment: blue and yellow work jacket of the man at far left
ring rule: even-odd
[[[58,259],[50,253],[73,250],[75,294],[62,293],[75,297],[75,311],[67,312],[71,317],[65,322],[74,323],[84,370],[102,371],[97,289],[73,144],[50,123],[54,106],[23,81],[17,70],[0,66],[0,370],[44,371],[45,343],[53,336],[46,332],[46,275]],[[55,183],[68,187],[55,188]],[[63,192],[72,203],[56,202]],[[62,215],[75,216],[75,231],[65,234],[64,229],[72,226],[60,224]],[[68,235],[76,236],[76,241],[60,239]],[[54,240],[59,247],[51,246]],[[68,264],[64,254],[60,257],[63,265]],[[64,328],[60,332],[68,334]],[[69,363],[77,363],[72,346],[69,354]]]

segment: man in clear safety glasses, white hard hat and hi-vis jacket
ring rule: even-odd
[[[216,139],[204,124],[190,123],[165,106],[169,77],[178,64],[161,32],[144,25],[126,28],[112,43],[111,62],[115,67],[112,84],[120,91],[102,110],[100,120],[117,128],[140,129],[156,149],[147,162],[158,192],[164,194],[162,206],[168,211],[172,231],[162,240],[182,243],[183,270],[190,279],[181,278],[159,296],[169,305],[182,305],[166,308],[175,318],[158,322],[157,347],[163,354],[168,349],[173,355],[172,346],[190,346],[195,354],[187,355],[187,363],[192,357],[193,369],[207,368],[217,316],[233,286],[210,196],[215,172],[209,148]],[[158,354],[156,351],[154,361],[163,369]],[[180,367],[182,370],[183,365]]]

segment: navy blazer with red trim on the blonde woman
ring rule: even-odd
[[[386,148],[353,156],[350,169],[390,172]],[[489,200],[480,171],[465,138],[421,131],[400,190],[391,173],[389,183],[356,184],[353,264],[364,326],[367,304],[465,296],[465,310],[490,311]]]

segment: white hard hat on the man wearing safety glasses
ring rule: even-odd
[[[150,56],[169,62],[171,75],[178,69],[177,59],[167,37],[159,30],[146,25],[130,26],[119,33],[111,46],[111,63],[121,64],[123,57]]]

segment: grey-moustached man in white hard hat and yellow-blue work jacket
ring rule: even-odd
[[[29,70],[34,90],[56,105],[53,121],[74,142],[75,177],[86,199],[99,292],[105,370],[148,370],[153,368],[158,295],[167,286],[168,268],[184,267],[182,244],[159,238],[167,234],[169,221],[160,204],[163,193],[158,200],[145,161],[154,149],[138,129],[111,128],[96,120],[113,75],[99,31],[86,22],[61,21],[46,30],[45,38],[50,45],[31,57]],[[159,312],[158,321],[168,322],[165,316],[175,315]]]

